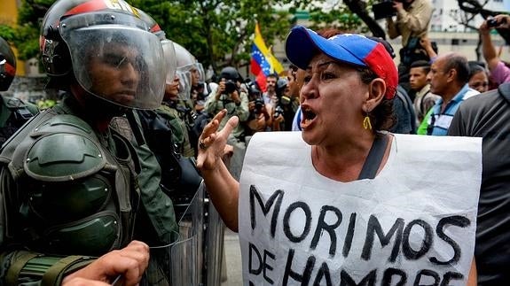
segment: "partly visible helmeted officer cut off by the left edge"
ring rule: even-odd
[[[16,57],[2,37],[0,37],[0,91],[11,86],[16,75]],[[0,97],[0,146],[11,137],[28,119],[39,112],[34,104],[15,97]]]

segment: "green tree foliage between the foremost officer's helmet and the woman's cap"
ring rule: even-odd
[[[291,14],[279,12],[275,0],[133,0],[205,66],[240,66],[249,62],[255,22],[267,45],[285,39]]]

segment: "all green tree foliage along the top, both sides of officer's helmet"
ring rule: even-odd
[[[311,27],[362,30],[361,20],[345,5],[329,10],[309,0],[127,0],[155,19],[169,39],[180,43],[215,70],[249,63],[255,23],[268,46],[283,41],[293,25],[294,12],[310,12]],[[22,0],[17,27],[0,25],[4,36],[19,50],[21,59],[37,57],[44,13],[55,0]],[[318,1],[324,2],[324,1]],[[276,7],[276,8],[275,8]],[[281,7],[281,8],[278,8]]]

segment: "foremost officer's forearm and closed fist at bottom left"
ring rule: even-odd
[[[33,282],[43,285],[90,285],[86,280],[137,285],[149,261],[149,247],[133,241],[122,250],[96,259],[88,256],[55,256],[34,251],[5,251],[0,255],[2,285]]]

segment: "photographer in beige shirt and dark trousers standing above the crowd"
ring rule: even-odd
[[[393,1],[393,8],[396,20],[387,18],[388,36],[395,39],[402,35],[398,78],[404,89],[409,90],[409,66],[419,59],[428,60],[427,52],[420,46],[420,38],[427,35],[434,7],[430,0],[400,0]]]

